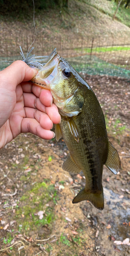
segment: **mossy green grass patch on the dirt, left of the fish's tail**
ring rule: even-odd
[[[18,231],[28,233],[30,230],[36,231],[45,224],[52,224],[55,220],[54,207],[46,204],[50,201],[56,204],[58,199],[54,185],[45,182],[37,183],[31,190],[26,191],[20,199],[19,207],[16,208]],[[42,220],[36,215],[39,210],[44,211]]]

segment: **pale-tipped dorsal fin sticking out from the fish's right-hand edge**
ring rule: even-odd
[[[116,148],[112,145],[109,141],[109,148],[108,148],[108,158],[105,165],[113,172],[117,174],[120,170],[120,158]]]

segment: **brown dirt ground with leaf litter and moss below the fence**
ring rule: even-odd
[[[102,106],[121,159],[118,175],[103,169],[105,208],[97,210],[88,201],[72,204],[85,177],[63,171],[68,154],[63,139],[21,134],[0,151],[0,255],[130,254],[130,81],[84,78]]]

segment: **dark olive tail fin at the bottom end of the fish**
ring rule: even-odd
[[[103,188],[100,194],[92,194],[90,191],[86,191],[83,188],[76,197],[74,197],[72,203],[79,203],[81,201],[90,201],[97,209],[103,210],[104,208],[104,198],[103,198]]]

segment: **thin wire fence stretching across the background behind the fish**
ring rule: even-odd
[[[1,60],[20,59],[19,46],[26,54],[34,38],[35,35],[28,31],[20,37],[17,35],[0,35]],[[36,55],[49,55],[57,48],[60,56],[70,60],[75,68],[79,67],[78,71],[86,72],[87,69],[91,70],[90,73],[92,73],[92,68],[94,68],[94,74],[107,73],[117,76],[124,74],[124,77],[130,77],[130,43],[127,37],[121,38],[120,43],[114,36],[85,38],[79,35],[50,36],[49,34],[38,34],[33,46],[35,47],[33,54]],[[116,72],[113,73],[112,70],[116,70]]]

